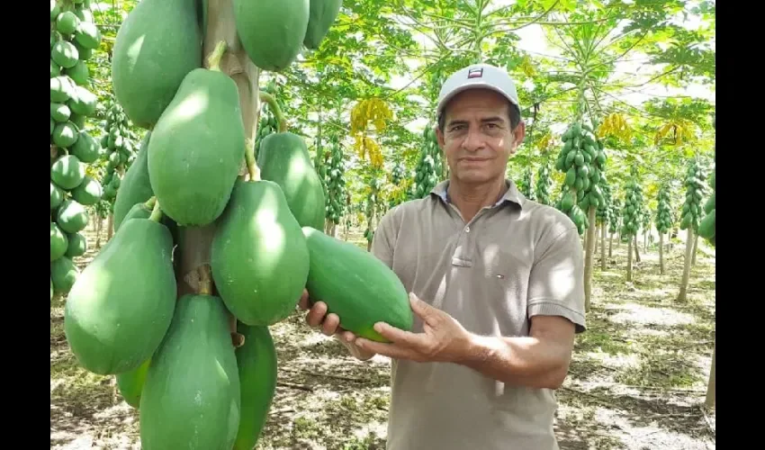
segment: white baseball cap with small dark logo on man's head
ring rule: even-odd
[[[446,78],[444,85],[441,86],[441,92],[438,93],[436,117],[441,116],[446,103],[448,103],[456,94],[474,88],[484,88],[496,91],[504,95],[510,103],[518,106],[518,110],[520,110],[516,84],[513,83],[513,80],[510,78],[507,71],[489,64],[473,64],[457,70],[454,74]]]

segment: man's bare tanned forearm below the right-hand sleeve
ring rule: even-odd
[[[570,352],[539,338],[472,335],[456,363],[503,383],[557,389],[568,372]]]

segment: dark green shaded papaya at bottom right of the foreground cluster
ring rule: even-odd
[[[233,450],[252,450],[266,425],[276,392],[276,348],[268,327],[249,327],[241,322],[237,332],[244,336],[236,349],[241,390],[241,414]]]

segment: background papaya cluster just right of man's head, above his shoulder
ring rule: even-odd
[[[599,183],[606,176],[606,152],[586,122],[574,121],[562,139],[563,147],[555,160],[555,169],[566,175],[560,208],[582,234],[590,227],[590,206],[597,208],[605,201]]]

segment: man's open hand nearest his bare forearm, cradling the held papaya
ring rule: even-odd
[[[412,333],[377,322],[374,330],[391,343],[356,338],[356,346],[379,355],[420,363],[454,363],[467,355],[471,335],[457,320],[419,300],[414,293],[410,293],[410,304],[412,311],[422,320],[422,333]]]

